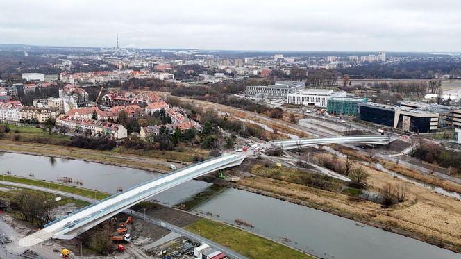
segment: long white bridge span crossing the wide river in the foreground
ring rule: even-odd
[[[246,156],[236,154],[223,155],[175,170],[170,174],[154,178],[151,181],[131,187],[97,203],[92,203],[90,206],[76,210],[69,215],[60,217],[45,225],[40,231],[19,240],[18,244],[22,247],[30,247],[51,238],[70,240],[155,194],[204,174],[235,167],[240,165],[245,158]]]

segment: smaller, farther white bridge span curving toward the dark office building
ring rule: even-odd
[[[283,150],[301,149],[303,147],[317,144],[336,144],[336,143],[363,143],[363,144],[388,144],[391,138],[383,135],[369,136],[345,136],[345,137],[321,137],[299,140],[276,140],[271,144]]]

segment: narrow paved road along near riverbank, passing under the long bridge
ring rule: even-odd
[[[78,194],[72,194],[72,193],[69,193],[69,192],[62,192],[60,190],[53,190],[53,189],[40,187],[40,186],[35,186],[35,185],[27,185],[27,184],[24,184],[24,183],[12,183],[12,182],[8,182],[8,181],[0,181],[0,184],[10,185],[10,186],[15,186],[15,187],[21,187],[21,188],[24,188],[24,189],[37,190],[37,191],[41,191],[41,192],[49,192],[49,193],[52,193],[52,194],[58,194],[58,195],[62,195],[62,196],[65,196],[65,197],[70,197],[70,198],[81,200],[81,201],[87,201],[87,202],[90,202],[90,203],[94,203],[94,202],[98,201],[97,199],[84,197],[84,196],[81,196],[81,195],[78,195]],[[128,213],[130,213],[131,215],[135,216],[135,217],[138,217],[140,219],[144,219],[144,213],[136,212],[134,210],[126,210],[126,211]],[[242,256],[239,253],[236,253],[235,251],[232,251],[232,250],[230,250],[230,249],[228,249],[226,247],[223,247],[220,244],[212,242],[211,240],[208,240],[205,237],[201,237],[201,236],[196,235],[196,234],[194,234],[194,233],[192,233],[190,231],[186,231],[183,228],[180,228],[178,226],[174,226],[174,225],[169,224],[167,222],[162,222],[160,219],[155,219],[155,218],[149,217],[147,215],[145,216],[145,219],[146,219],[146,222],[150,222],[152,224],[162,226],[164,228],[167,228],[170,231],[174,231],[174,232],[176,232],[178,234],[181,234],[181,235],[183,235],[183,236],[185,236],[187,238],[190,238],[191,240],[195,240],[196,242],[205,242],[210,247],[213,247],[214,249],[217,249],[217,250],[219,250],[219,251],[221,251],[223,253],[226,253],[226,255],[229,256],[230,258],[239,258],[239,259],[240,258],[241,259],[246,258],[245,256]]]

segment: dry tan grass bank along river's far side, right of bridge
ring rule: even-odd
[[[369,172],[371,186],[399,181],[383,172],[372,169],[369,169]],[[381,208],[379,204],[351,199],[344,194],[260,176],[242,178],[238,183],[230,183],[212,176],[201,179],[308,206],[437,247],[461,252],[461,239],[456,227],[461,223],[460,201],[417,185],[409,186],[408,201],[391,208]]]

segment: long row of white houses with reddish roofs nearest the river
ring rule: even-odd
[[[94,136],[102,135],[113,139],[122,139],[128,136],[126,128],[121,124],[93,119],[61,115],[56,119],[56,125],[70,128],[74,131],[78,131],[79,133],[90,131]]]

